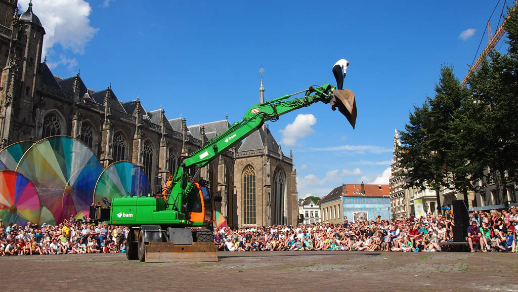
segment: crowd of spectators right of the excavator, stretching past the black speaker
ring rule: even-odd
[[[466,241],[470,251],[517,252],[518,210],[471,212]],[[427,216],[296,226],[223,227],[214,231],[219,251],[393,251],[441,252],[451,248],[454,220],[431,212]],[[482,236],[483,235],[483,236]]]

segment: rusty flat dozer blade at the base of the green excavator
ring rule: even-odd
[[[213,242],[175,245],[172,242],[150,242],[146,246],[146,262],[218,261]]]

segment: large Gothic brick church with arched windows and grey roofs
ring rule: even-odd
[[[140,100],[123,102],[107,87],[93,90],[80,75],[62,78],[41,62],[44,26],[32,3],[19,14],[17,0],[0,0],[0,144],[70,135],[87,144],[104,167],[128,160],[139,165],[160,191],[181,155],[202,147],[230,127],[225,119],[188,126],[162,108],[148,111]],[[264,101],[261,81],[260,100]],[[253,102],[252,100],[250,101]],[[293,155],[266,126],[200,171],[217,208],[231,226],[297,223]]]

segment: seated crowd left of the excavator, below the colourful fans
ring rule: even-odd
[[[0,220],[0,256],[123,253],[128,229],[107,224],[65,221],[59,225],[25,226]]]

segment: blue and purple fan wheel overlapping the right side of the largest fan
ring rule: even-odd
[[[81,210],[89,210],[94,189],[103,168],[100,165],[87,165],[74,173],[63,192],[63,216],[76,216]]]

